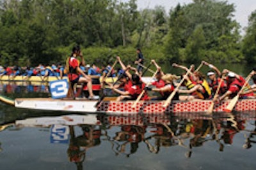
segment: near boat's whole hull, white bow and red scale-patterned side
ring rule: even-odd
[[[173,101],[163,108],[164,101],[140,101],[132,108],[134,101],[116,101],[115,97],[106,97],[97,107],[97,101],[89,100],[61,100],[51,98],[18,98],[15,107],[35,110],[74,111],[82,113],[204,113],[212,101]],[[223,112],[229,101],[222,101],[214,105],[214,112]],[[255,111],[256,99],[241,99],[234,111]]]

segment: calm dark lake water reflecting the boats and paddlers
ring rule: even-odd
[[[228,69],[246,75],[250,67]],[[0,87],[12,98],[49,96],[44,85]],[[0,104],[0,169],[255,169],[255,120],[256,113],[74,115]]]

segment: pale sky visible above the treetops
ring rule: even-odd
[[[128,0],[122,0],[128,1]],[[248,26],[248,17],[252,11],[256,10],[256,0],[227,0],[229,4],[234,4],[236,12],[234,13],[234,19],[241,25],[241,33],[244,33],[244,27]],[[155,6],[164,6],[166,12],[171,8],[174,8],[178,3],[188,4],[193,2],[192,0],[137,0],[138,9],[154,8]]]

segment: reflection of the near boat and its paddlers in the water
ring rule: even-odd
[[[26,127],[44,127],[51,133],[51,143],[67,143],[67,157],[83,169],[86,152],[108,142],[116,156],[132,157],[143,143],[148,152],[158,154],[165,148],[184,148],[184,157],[193,157],[193,150],[209,141],[216,141],[216,150],[234,143],[234,136],[243,132],[241,148],[256,143],[255,113],[207,115],[61,115],[33,117],[2,124],[0,131],[20,131]],[[1,148],[2,147],[2,148]],[[0,143],[0,150],[4,150]]]

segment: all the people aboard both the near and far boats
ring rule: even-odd
[[[62,64],[51,64],[51,66],[39,64],[36,67],[0,67],[0,76],[8,75],[12,79],[15,76],[22,75],[24,80],[28,79],[29,76],[40,76],[42,80],[45,80],[47,76],[57,76],[61,79],[63,76],[67,76],[72,88],[76,83],[87,85],[89,99],[96,99],[93,95],[92,78],[90,75],[103,76],[102,85],[107,83],[110,89],[120,94],[117,99],[118,101],[124,99],[136,100],[138,97],[141,97],[141,100],[166,100],[172,93],[175,93],[173,99],[182,101],[212,99],[214,96],[218,96],[218,99],[221,101],[227,98],[231,99],[237,96],[237,94],[241,98],[254,98],[253,92],[256,91],[256,85],[250,86],[239,74],[228,69],[223,69],[221,72],[216,66],[205,61],[202,61],[198,69],[195,69],[193,65],[188,68],[179,64],[172,64],[173,67],[186,71],[186,74],[176,76],[175,74],[164,73],[156,61],[152,60],[151,63],[156,66],[156,73],[153,76],[154,81],[149,83],[143,82],[141,77],[148,68],[143,66],[144,57],[139,48],[137,49],[137,54],[138,57],[134,61],[134,64],[138,66],[136,68],[131,65],[125,66],[118,56],[112,66],[109,63],[107,66],[100,68],[95,64],[92,64],[92,66],[86,64],[79,46],[75,46],[72,49],[71,55],[67,58],[65,66]],[[117,62],[120,68],[115,70],[114,66]],[[200,67],[204,65],[210,69],[206,74],[208,79],[199,71]],[[256,71],[254,70],[250,73],[253,82],[256,82],[255,73]],[[118,76],[118,83],[104,82],[104,78],[114,76]],[[182,80],[178,83],[180,77]],[[246,88],[241,90],[243,86]],[[159,96],[149,97],[148,90],[158,92]]]

